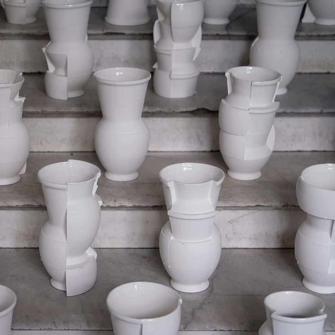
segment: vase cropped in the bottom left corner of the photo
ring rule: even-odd
[[[16,305],[16,295],[8,287],[0,285],[0,334],[9,335],[13,311]]]

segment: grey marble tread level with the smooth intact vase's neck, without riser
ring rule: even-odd
[[[96,83],[90,79],[85,94],[78,98],[56,100],[49,98],[44,90],[44,75],[26,74],[20,95],[26,96],[23,105],[24,117],[101,116],[96,92]],[[280,102],[277,113],[326,114],[335,112],[335,74],[297,74],[289,84],[288,93],[277,96]],[[143,116],[208,115],[217,112],[220,101],[227,95],[227,80],[224,74],[199,76],[197,93],[189,98],[168,99],[153,91],[152,79],[143,107]]]

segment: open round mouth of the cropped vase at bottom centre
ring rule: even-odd
[[[151,282],[126,283],[107,296],[110,313],[132,323],[164,318],[174,313],[181,303],[181,296],[175,290]]]

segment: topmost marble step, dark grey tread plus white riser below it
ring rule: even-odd
[[[106,8],[92,8],[88,39],[94,49],[94,70],[130,66],[152,70],[156,61],[153,51],[152,28],[156,11],[150,8],[151,21],[141,26],[115,26],[104,21]],[[47,69],[42,47],[48,41],[44,13],[38,21],[26,26],[5,21],[0,11],[1,66],[22,72],[45,72]],[[335,72],[335,26],[300,23],[296,39],[301,49],[298,72]],[[203,24],[202,51],[197,64],[202,72],[225,72],[228,68],[248,65],[249,50],[257,36],[256,10],[240,7],[227,26]]]

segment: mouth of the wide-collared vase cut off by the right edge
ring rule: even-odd
[[[309,166],[303,170],[300,177],[311,186],[335,191],[335,163]]]

